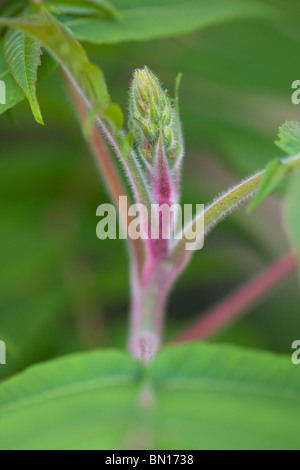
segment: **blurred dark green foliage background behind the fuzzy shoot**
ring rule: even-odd
[[[183,202],[207,203],[281,155],[273,141],[279,125],[299,119],[291,84],[300,76],[298,33],[279,24],[236,20],[174,39],[86,45],[125,113],[135,68],[148,65],[171,94],[183,72]],[[26,103],[16,125],[0,117],[0,378],[75,351],[123,348],[128,331],[126,247],[96,238],[96,208],[109,199],[59,71],[38,95],[44,128]],[[165,339],[289,249],[279,194],[251,216],[237,211],[177,283]],[[299,301],[292,276],[213,340],[289,354]]]

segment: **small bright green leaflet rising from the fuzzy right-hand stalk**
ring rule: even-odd
[[[270,194],[278,188],[284,177],[290,171],[290,166],[280,160],[272,160],[266,167],[262,183],[257,195],[249,204],[248,211],[252,212],[256,209]]]

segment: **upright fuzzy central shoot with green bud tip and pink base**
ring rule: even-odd
[[[135,72],[130,98],[130,128],[134,149],[124,165],[135,200],[152,204],[157,212],[148,225],[145,264],[133,269],[129,350],[149,362],[160,347],[166,303],[183,266],[167,262],[172,245],[174,220],[170,208],[179,200],[179,169],[182,155],[178,107],[170,104],[152,72]],[[136,171],[138,169],[139,171]],[[167,220],[167,223],[166,223]],[[153,236],[153,231],[155,236]]]

